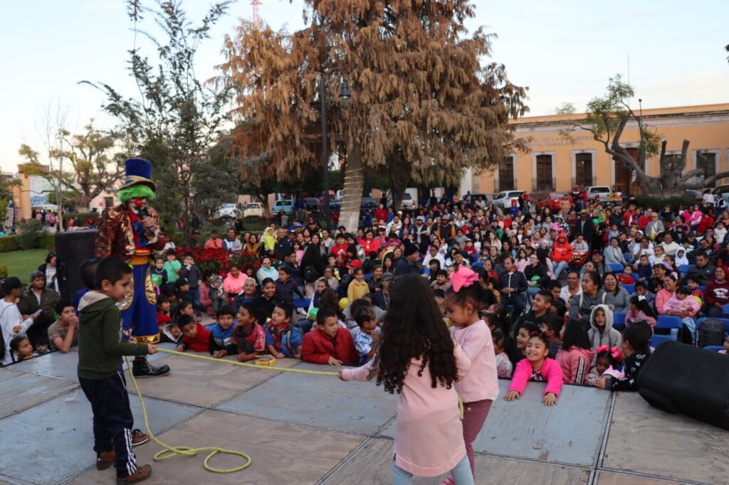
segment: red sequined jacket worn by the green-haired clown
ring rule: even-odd
[[[147,208],[149,217],[155,221],[155,232],[157,232],[157,241],[147,246],[150,250],[160,251],[165,247],[168,238],[160,232],[160,216],[157,211]],[[114,258],[130,261],[136,253],[134,245],[134,234],[132,232],[132,224],[129,213],[124,205],[115,205],[111,208],[104,209],[101,214],[101,220],[98,223],[98,232],[96,234],[96,256]]]

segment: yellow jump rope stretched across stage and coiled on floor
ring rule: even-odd
[[[239,366],[239,367],[249,367],[249,368],[264,368],[268,369],[269,371],[281,371],[281,372],[292,372],[294,374],[311,374],[313,376],[339,376],[338,372],[331,372],[331,371],[308,371],[305,369],[300,368],[286,368],[286,367],[276,367],[270,365],[270,362],[272,360],[259,360],[257,364],[247,363],[247,362],[236,362],[235,360],[225,360],[225,359],[217,359],[212,357],[207,357],[206,355],[196,355],[196,354],[185,354],[183,352],[176,352],[176,350],[167,350],[167,349],[157,349],[157,352],[164,352],[166,354],[172,354],[172,355],[181,355],[182,357],[187,357],[191,359],[199,359],[199,360],[211,360],[212,362],[219,362],[219,363],[227,363],[231,366]],[[129,358],[125,358],[127,361],[127,368],[131,369],[132,366],[129,362]],[[251,463],[253,460],[251,460],[251,457],[249,455],[238,452],[234,449],[225,449],[220,448],[219,446],[203,446],[202,448],[190,448],[190,446],[170,446],[168,444],[163,443],[162,441],[158,440],[157,437],[152,433],[152,430],[149,429],[149,419],[147,418],[147,408],[144,406],[144,399],[142,399],[141,391],[139,390],[139,385],[136,383],[136,379],[134,379],[134,374],[130,371],[129,376],[132,380],[132,384],[134,385],[134,390],[137,393],[137,397],[139,398],[139,404],[141,405],[141,413],[142,416],[144,416],[144,427],[147,430],[147,434],[149,435],[149,438],[152,438],[152,441],[160,445],[163,450],[160,452],[157,452],[155,454],[155,462],[159,462],[162,460],[168,460],[169,458],[174,458],[177,455],[185,455],[187,457],[194,457],[198,452],[210,452],[208,456],[203,461],[203,467],[205,467],[206,470],[211,471],[213,473],[235,473],[237,471],[245,470],[249,466],[251,466]],[[461,401],[461,396],[458,398],[458,406],[459,411],[461,412],[461,421],[463,420],[463,401]],[[210,465],[210,460],[212,457],[214,457],[216,454],[234,454],[235,456],[243,458],[243,460],[246,460],[243,465],[237,466],[235,468],[214,468]]]

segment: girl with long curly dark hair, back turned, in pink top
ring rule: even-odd
[[[378,352],[364,366],[339,374],[343,381],[375,379],[388,393],[398,393],[394,484],[448,471],[457,484],[473,484],[453,387],[470,366],[448,334],[426,280],[398,277],[390,289]]]

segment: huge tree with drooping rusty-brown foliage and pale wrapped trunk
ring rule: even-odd
[[[525,90],[503,65],[482,63],[491,37],[467,34],[469,1],[305,5],[308,26],[295,33],[243,22],[225,40],[222,82],[248,122],[238,150],[267,154],[269,173],[287,180],[320,170],[319,83],[327,79],[330,146],[345,170],[340,224],[356,229],[371,170],[387,166],[399,199],[412,183],[456,182],[466,167],[494,167],[515,143],[507,122],[526,111]],[[341,77],[351,86],[346,106]]]

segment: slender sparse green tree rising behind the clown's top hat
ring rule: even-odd
[[[225,132],[227,92],[207,87],[195,75],[198,47],[231,3],[211,5],[203,19],[193,24],[179,0],[155,0],[154,7],[128,0],[135,36],[156,47],[152,60],[136,44],[129,51],[128,68],[139,96],[123,95],[111,84],[87,82],[106,94],[104,109],[120,122],[130,154],[152,162],[155,205],[168,231],[179,219],[188,221],[193,210],[202,216],[211,214],[221,202],[220,194],[237,199],[238,167],[230,165],[227,157],[211,153]],[[147,17],[162,29],[163,36],[152,36],[142,28]],[[184,224],[184,230],[190,242],[190,224]]]

